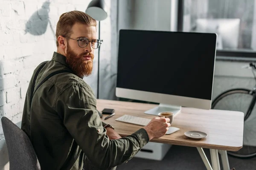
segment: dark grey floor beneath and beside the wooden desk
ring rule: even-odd
[[[204,149],[204,152],[211,163],[209,149]],[[256,158],[228,157],[230,169],[235,167],[236,170],[256,170]],[[206,170],[206,167],[195,147],[173,145],[162,161],[133,158],[117,166],[116,170]]]

